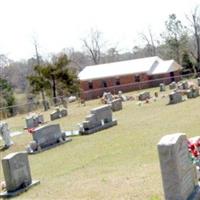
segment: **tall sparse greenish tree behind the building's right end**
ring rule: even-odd
[[[165,43],[170,50],[170,57],[174,58],[181,64],[181,57],[183,52],[187,49],[188,35],[186,28],[181,21],[176,18],[175,14],[169,16],[168,21],[165,22],[166,33],[162,34]]]

